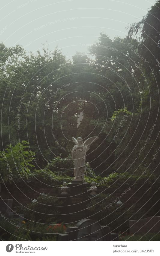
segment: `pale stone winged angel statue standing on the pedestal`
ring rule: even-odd
[[[81,137],[78,137],[77,140],[74,137],[72,137],[72,141],[74,141],[74,143],[76,144],[72,148],[75,181],[84,180],[84,172],[86,170],[86,152],[89,150],[91,144],[96,140],[98,140],[98,137],[91,137],[83,143]]]

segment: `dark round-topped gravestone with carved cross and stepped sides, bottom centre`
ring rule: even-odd
[[[68,227],[67,232],[59,234],[58,241],[118,241],[118,235],[110,233],[110,228],[101,226],[94,220],[84,219],[76,226]]]

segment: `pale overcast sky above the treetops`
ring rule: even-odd
[[[68,56],[87,52],[104,32],[124,37],[128,23],[140,21],[155,0],[1,0],[0,41],[35,52],[42,45]]]

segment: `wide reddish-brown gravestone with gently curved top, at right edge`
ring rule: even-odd
[[[160,216],[152,216],[140,220],[129,220],[130,234],[157,233],[160,231]]]

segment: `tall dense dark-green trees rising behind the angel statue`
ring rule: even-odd
[[[157,168],[159,7],[157,1],[125,38],[101,33],[88,54],[77,52],[72,60],[57,48],[34,55],[1,43],[0,150],[28,141],[41,169],[70,154],[72,136],[98,136],[87,156],[97,174]]]

